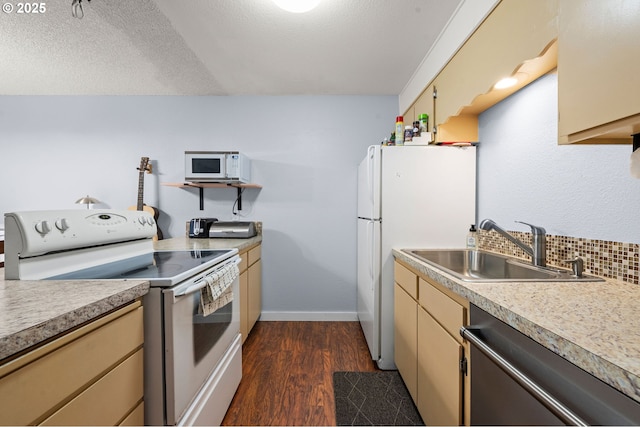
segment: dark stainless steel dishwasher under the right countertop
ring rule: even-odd
[[[640,425],[640,402],[471,305],[472,425]]]

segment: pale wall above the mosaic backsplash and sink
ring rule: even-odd
[[[558,146],[557,76],[545,76],[480,116],[478,219],[507,230],[640,243],[640,180],[630,145]],[[594,105],[593,113],[598,114]]]

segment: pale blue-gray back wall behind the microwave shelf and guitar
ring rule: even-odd
[[[183,181],[187,149],[239,149],[261,190],[241,219],[264,223],[264,319],[355,319],[356,174],[368,145],[393,129],[395,96],[0,97],[0,212],[135,205],[141,156],[152,159],[145,202],[165,235],[192,217],[232,219],[235,190]]]

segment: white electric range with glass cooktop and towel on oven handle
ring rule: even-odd
[[[14,212],[5,227],[6,279],[148,280],[145,424],[222,422],[242,378],[237,249],[154,251],[144,211]]]

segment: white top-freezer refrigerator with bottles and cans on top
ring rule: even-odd
[[[358,319],[372,359],[395,369],[392,248],[465,247],[476,148],[372,145],[358,168]]]

